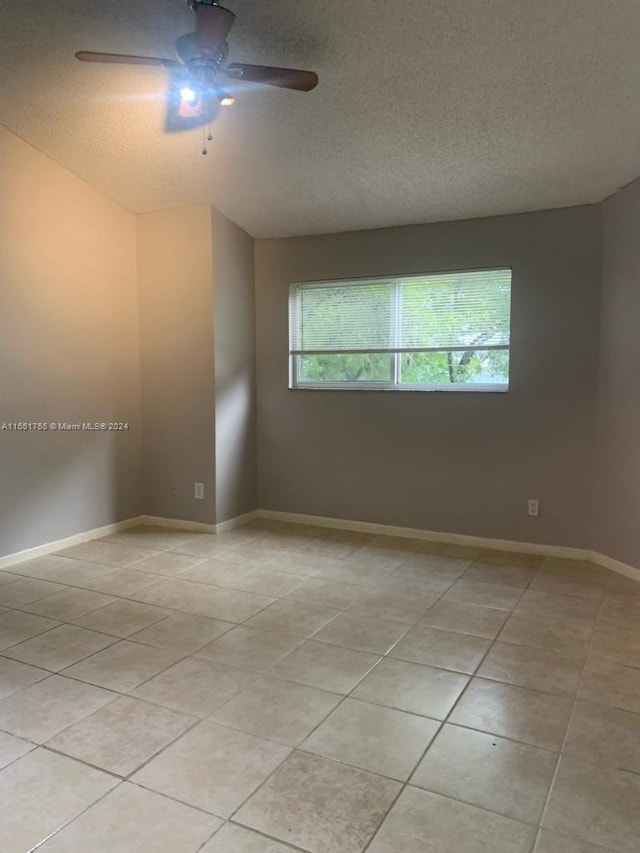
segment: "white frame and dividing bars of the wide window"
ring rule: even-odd
[[[303,358],[304,354],[298,353],[296,350],[292,350],[292,297],[296,290],[299,288],[303,288],[305,285],[313,286],[315,288],[319,287],[335,287],[336,285],[345,285],[348,286],[350,284],[357,285],[359,282],[367,282],[371,284],[389,284],[393,288],[393,304],[394,310],[392,312],[392,321],[395,324],[395,334],[399,332],[399,321],[401,317],[401,313],[399,309],[399,297],[400,297],[400,285],[407,281],[415,281],[416,279],[420,279],[422,277],[429,278],[431,276],[444,276],[444,275],[464,275],[465,273],[475,273],[475,272],[509,272],[510,273],[510,305],[509,305],[509,343],[507,345],[489,345],[485,347],[399,347],[395,350],[388,349],[371,349],[371,350],[361,350],[361,349],[341,349],[332,351],[336,355],[350,355],[356,353],[362,354],[375,354],[375,353],[389,353],[391,358],[391,369],[390,369],[390,378],[389,381],[380,382],[380,381],[357,381],[357,382],[305,382],[299,379],[299,364],[300,359]],[[296,281],[291,282],[289,284],[288,290],[288,337],[289,337],[289,350],[288,350],[288,361],[289,361],[289,390],[290,391],[417,391],[417,392],[425,392],[425,391],[433,391],[433,392],[444,392],[444,393],[497,393],[497,394],[506,394],[510,390],[511,386],[511,328],[512,328],[512,320],[513,320],[513,299],[511,298],[513,295],[513,267],[505,264],[501,266],[491,266],[491,267],[473,267],[469,269],[457,269],[457,270],[432,270],[431,272],[421,272],[421,273],[413,273],[409,275],[391,275],[391,276],[379,276],[379,277],[371,277],[371,276],[359,276],[357,278],[349,278],[349,279],[323,279],[321,281]],[[298,311],[300,311],[300,303],[297,303]],[[298,314],[298,322],[299,322],[299,314]],[[507,382],[495,382],[495,383],[480,383],[480,382],[430,382],[430,383],[403,383],[399,380],[399,367],[400,367],[400,359],[398,355],[407,352],[464,352],[469,350],[506,350],[509,353],[509,376],[507,377]],[[323,354],[325,351],[316,351],[309,350],[307,355],[319,355]]]

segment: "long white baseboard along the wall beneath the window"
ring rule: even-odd
[[[467,536],[463,533],[440,533],[414,527],[395,527],[392,524],[373,524],[368,521],[347,521],[342,518],[323,518],[317,515],[300,515],[294,512],[258,510],[260,518],[272,521],[290,521],[296,524],[313,524],[316,527],[334,527],[338,530],[353,530],[356,533],[380,533],[406,539],[424,539],[427,542],[446,542],[452,545],[471,545],[476,548],[493,548],[497,551],[520,551],[525,554],[541,554],[545,557],[564,557],[569,560],[588,560],[591,551],[585,548],[569,548],[565,545],[542,545],[535,542],[513,542],[508,539],[488,539],[483,536]]]

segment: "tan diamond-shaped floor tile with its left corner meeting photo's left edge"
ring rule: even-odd
[[[106,634],[87,631],[75,625],[60,625],[46,634],[5,649],[4,654],[22,663],[58,672],[115,642],[115,637]]]

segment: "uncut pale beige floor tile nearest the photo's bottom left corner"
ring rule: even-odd
[[[195,722],[194,717],[121,696],[60,732],[47,746],[128,776]]]

